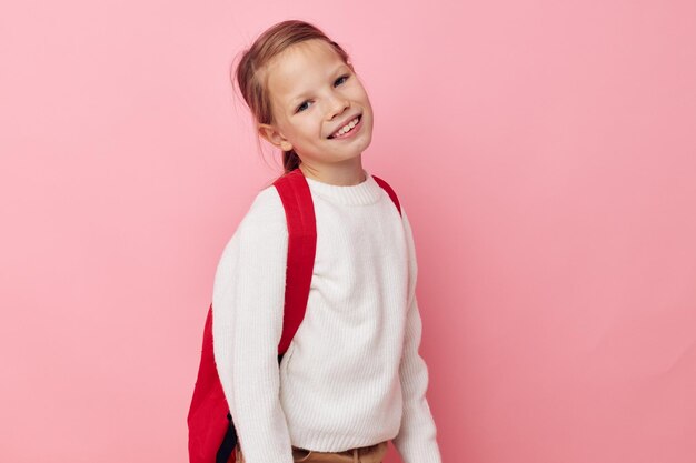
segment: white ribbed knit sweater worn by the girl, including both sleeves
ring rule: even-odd
[[[260,191],[220,258],[212,336],[247,463],[292,463],[291,445],[340,452],[391,440],[405,463],[440,463],[418,353],[412,232],[365,171],[357,185],[307,178],[317,250],[305,319],[278,364],[288,229]]]

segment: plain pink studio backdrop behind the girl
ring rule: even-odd
[[[280,168],[228,70],[289,18],[370,93],[444,461],[695,462],[696,4],[658,0],[3,6],[0,461],[187,460],[215,269]]]

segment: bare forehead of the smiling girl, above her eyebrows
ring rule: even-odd
[[[324,40],[295,43],[268,64],[268,89],[274,99],[287,103],[297,94],[322,83],[344,60]]]

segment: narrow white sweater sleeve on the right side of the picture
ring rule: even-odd
[[[436,440],[437,430],[426,399],[428,368],[418,353],[422,324],[416,298],[418,275],[416,246],[412,230],[402,205],[401,213],[408,244],[408,312],[404,353],[399,368],[404,395],[404,415],[399,434],[392,440],[392,443],[401,455],[404,463],[440,463],[441,456]]]

